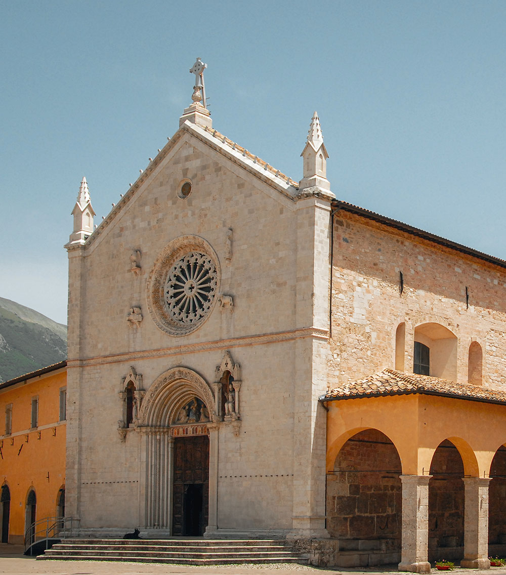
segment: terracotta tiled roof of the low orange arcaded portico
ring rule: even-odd
[[[338,401],[361,397],[380,397],[421,393],[470,401],[506,404],[506,392],[478,385],[458,384],[428,375],[407,374],[385,369],[358,381],[339,386],[320,397],[320,401]]]

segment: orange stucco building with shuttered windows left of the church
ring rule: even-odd
[[[65,514],[66,366],[0,385],[2,543],[24,543],[33,522]]]

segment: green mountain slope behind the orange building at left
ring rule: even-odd
[[[0,297],[0,382],[66,357],[66,325]]]

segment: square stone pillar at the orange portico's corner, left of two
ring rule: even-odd
[[[427,561],[430,478],[427,475],[401,475],[402,554],[399,571],[431,571],[431,564]]]

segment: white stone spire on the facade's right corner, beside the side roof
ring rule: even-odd
[[[313,114],[309,126],[308,139],[301,156],[304,158],[304,168],[303,177],[299,182],[299,190],[311,188],[316,191],[324,191],[325,194],[333,196],[327,179],[328,154],[323,143],[320,118],[317,112]]]

